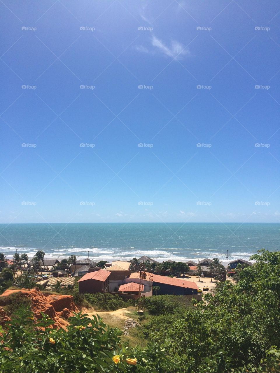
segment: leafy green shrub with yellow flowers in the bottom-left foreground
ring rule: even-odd
[[[1,373],[167,372],[164,351],[145,350],[121,343],[121,331],[81,313],[68,319],[68,330],[52,329],[53,320],[42,313],[34,323],[30,309],[20,307],[5,328],[0,328]],[[119,362],[113,362],[114,356]],[[136,358],[129,365],[127,358]],[[164,369],[164,370],[163,370]]]

